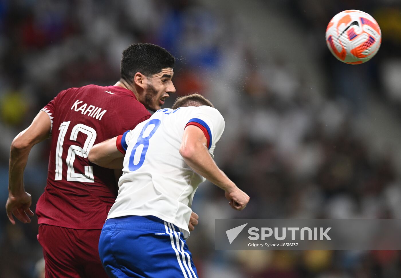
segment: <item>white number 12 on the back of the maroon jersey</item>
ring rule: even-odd
[[[57,139],[57,147],[56,147],[56,171],[55,171],[55,180],[60,181],[63,177],[63,144],[64,137],[67,133],[67,129],[70,125],[71,121],[61,123],[59,127],[59,138]],[[87,125],[83,125],[81,123],[75,125],[73,130],[71,131],[70,140],[77,141],[78,133],[85,133],[87,135],[85,143],[83,147],[79,147],[76,145],[71,145],[68,149],[67,153],[67,181],[81,181],[81,182],[95,182],[93,178],[93,167],[92,166],[84,166],[85,173],[75,173],[74,170],[74,161],[75,155],[79,155],[80,157],[87,158],[88,151],[93,146],[96,140],[96,131],[95,129],[88,127]]]

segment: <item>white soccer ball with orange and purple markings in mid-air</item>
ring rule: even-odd
[[[379,50],[381,30],[376,20],[366,12],[345,10],[328,23],[326,43],[338,60],[347,64],[362,64]]]

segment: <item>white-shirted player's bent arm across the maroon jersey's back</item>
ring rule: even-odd
[[[117,149],[116,141],[114,137],[94,145],[89,151],[89,161],[109,169],[122,169],[124,154]]]

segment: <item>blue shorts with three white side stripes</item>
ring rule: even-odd
[[[154,216],[107,220],[99,255],[110,277],[198,277],[178,227]]]

